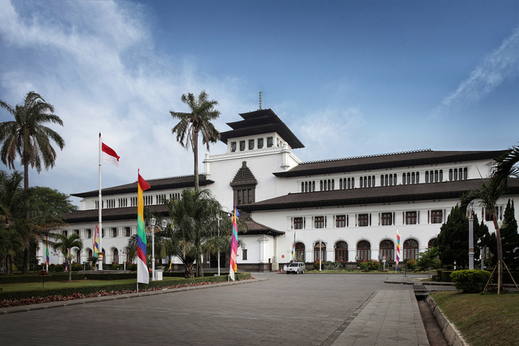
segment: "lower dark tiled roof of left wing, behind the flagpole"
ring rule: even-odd
[[[159,212],[162,215],[169,215],[167,208],[163,205],[146,206],[152,212]],[[86,222],[92,222],[95,224],[99,221],[99,210],[78,210],[75,212],[66,212],[61,216],[65,219],[67,224],[80,224]],[[131,220],[135,219],[137,223],[137,207],[128,208],[113,208],[102,210],[102,221],[115,221],[115,220]]]

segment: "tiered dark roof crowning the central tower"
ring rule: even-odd
[[[228,122],[232,130],[220,133],[220,140],[227,144],[229,138],[256,136],[277,132],[292,149],[304,148],[304,145],[293,134],[272,109],[260,109],[240,114],[244,120]]]

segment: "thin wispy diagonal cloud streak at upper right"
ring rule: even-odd
[[[458,88],[446,96],[441,105],[432,111],[432,117],[453,109],[462,109],[479,102],[507,79],[519,75],[519,27],[504,39],[484,62],[471,72]]]

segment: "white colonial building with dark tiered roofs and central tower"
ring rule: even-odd
[[[242,210],[248,232],[240,235],[238,267],[249,271],[277,270],[291,260],[295,237],[298,260],[331,260],[354,264],[385,257],[394,264],[397,228],[402,258],[416,257],[432,245],[450,209],[468,190],[491,174],[495,152],[435,152],[418,150],[303,163],[293,149],[304,145],[271,109],[240,114],[221,133],[224,154],[206,154],[201,188],[212,191],[222,206]],[[190,167],[190,165],[186,165]],[[518,179],[500,199],[499,217],[509,198],[519,196]],[[192,188],[193,176],[149,180],[145,206],[167,213],[164,199]],[[70,228],[84,239],[74,253],[86,261],[98,221],[98,190],[82,197],[78,212],[64,215]],[[124,248],[136,234],[137,183],[102,190],[102,248],[106,263],[125,262]],[[475,207],[493,231],[484,210]],[[516,219],[519,219],[516,211]],[[38,255],[44,258],[44,247]],[[53,254],[51,262],[64,262]],[[204,266],[217,266],[207,256]],[[222,267],[228,266],[226,260]],[[176,264],[180,264],[177,260]],[[178,267],[178,266],[177,266]]]

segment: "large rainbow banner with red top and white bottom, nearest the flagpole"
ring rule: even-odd
[[[146,232],[144,225],[143,192],[151,188],[137,171],[137,282],[149,284],[149,272],[146,265]]]

